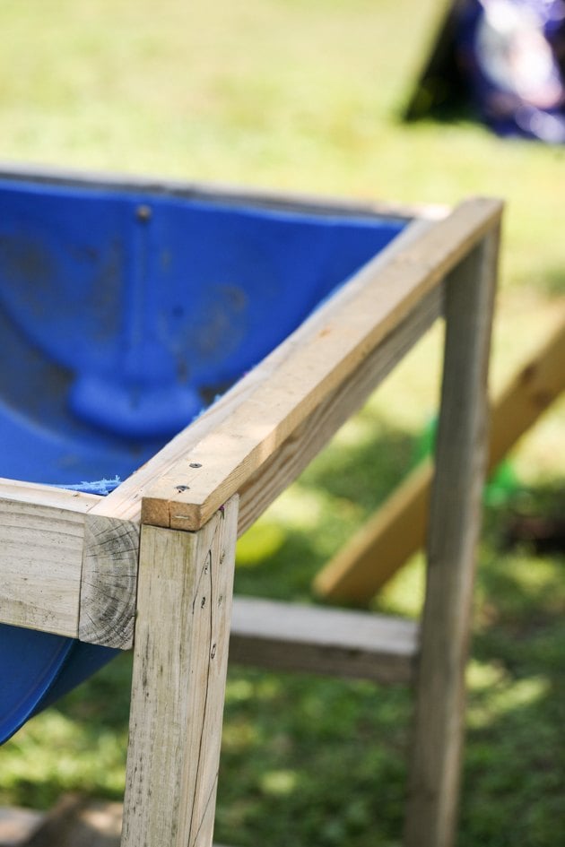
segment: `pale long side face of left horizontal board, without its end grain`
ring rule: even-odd
[[[99,497],[0,480],[0,621],[78,635],[85,514]]]

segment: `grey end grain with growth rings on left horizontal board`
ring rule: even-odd
[[[134,644],[138,523],[87,514],[79,638],[130,649]]]

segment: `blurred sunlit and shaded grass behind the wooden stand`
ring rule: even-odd
[[[565,148],[471,119],[400,114],[438,0],[4,0],[0,159],[455,203],[508,201],[492,381],[544,340],[565,297]],[[236,588],[312,602],[312,576],[402,479],[438,391],[430,333],[239,544]],[[511,457],[487,508],[475,611],[460,847],[565,838],[565,559],[503,544],[514,508],[563,508],[565,403]],[[373,601],[416,614],[422,560]],[[2,750],[0,803],[121,797],[129,657]],[[398,843],[411,696],[403,688],[230,670],[216,838]]]

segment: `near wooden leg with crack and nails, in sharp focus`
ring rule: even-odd
[[[143,526],[122,847],[212,843],[237,523]]]

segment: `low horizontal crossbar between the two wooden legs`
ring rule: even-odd
[[[370,612],[235,597],[230,661],[274,670],[406,683],[418,627]]]

